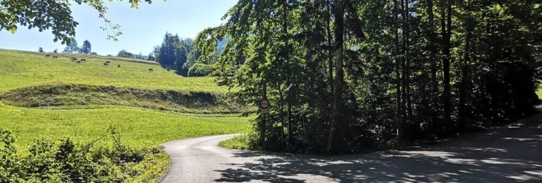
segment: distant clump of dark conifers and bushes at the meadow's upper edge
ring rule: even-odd
[[[215,47],[220,52],[221,47]],[[212,64],[216,62],[216,55],[199,59],[201,51],[193,44],[191,38],[180,38],[178,35],[165,34],[161,45],[154,47],[153,57],[166,69],[176,70],[183,76],[207,76],[212,72]]]

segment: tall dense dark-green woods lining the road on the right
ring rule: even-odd
[[[540,1],[251,1],[202,31],[199,60],[246,103],[271,102],[251,146],[358,152],[533,112]],[[217,42],[228,43],[217,55]]]

